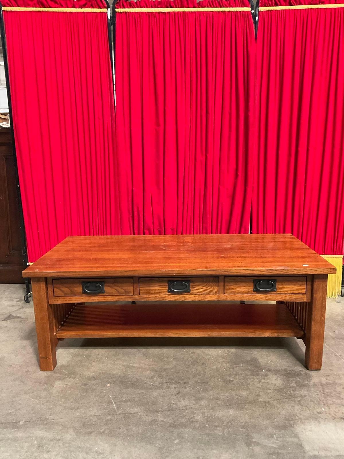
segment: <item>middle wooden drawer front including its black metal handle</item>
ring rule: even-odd
[[[209,295],[219,293],[218,277],[142,277],[140,295]]]

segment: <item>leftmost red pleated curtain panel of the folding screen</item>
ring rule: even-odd
[[[103,1],[4,6],[106,8]],[[105,12],[4,11],[28,257],[68,235],[117,234]]]

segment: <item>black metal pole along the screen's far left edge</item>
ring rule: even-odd
[[[24,216],[23,216],[23,211],[22,211],[22,195],[20,193],[20,184],[19,184],[17,151],[16,151],[16,143],[15,143],[15,140],[14,140],[12,104],[11,104],[11,91],[10,91],[10,78],[9,78],[9,75],[8,75],[6,33],[5,33],[5,24],[4,24],[4,16],[3,16],[3,11],[2,11],[2,5],[0,5],[0,33],[1,33],[2,52],[3,52],[3,55],[4,55],[4,67],[5,67],[8,111],[10,113],[11,141],[12,141],[12,151],[13,151],[14,172],[15,172],[16,185],[17,185],[16,186],[16,188],[17,188],[17,202],[18,202],[18,210],[19,210],[20,234],[21,234],[21,239],[22,239],[23,266],[24,266],[24,269],[25,269],[25,268],[28,267],[28,254],[27,254],[27,247],[26,247],[26,234],[25,234]],[[26,287],[26,294],[24,296],[24,300],[25,300],[25,302],[30,302],[30,296],[31,296],[30,279],[25,279],[25,287]]]

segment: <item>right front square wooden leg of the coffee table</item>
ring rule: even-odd
[[[308,305],[305,339],[305,365],[309,370],[320,370],[322,367],[326,293],[327,274],[314,275],[311,302]]]

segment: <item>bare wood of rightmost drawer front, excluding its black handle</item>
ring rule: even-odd
[[[253,280],[255,277],[225,277],[225,293],[236,294],[252,294],[255,296],[259,292],[253,291]],[[280,293],[306,293],[306,277],[305,276],[259,276],[259,279],[276,279],[277,291],[263,293],[263,295],[278,295]]]

